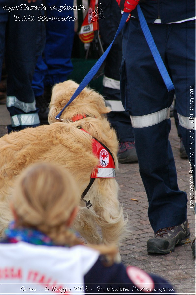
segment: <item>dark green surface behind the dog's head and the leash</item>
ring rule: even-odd
[[[68,79],[72,79],[78,84],[82,82],[86,74],[90,71],[90,69],[93,67],[93,65],[97,62],[97,59],[85,59],[85,58],[72,58],[71,59],[73,63],[73,71],[72,73],[67,76]],[[89,83],[89,86],[95,91],[102,93],[103,89],[103,76],[91,80]]]

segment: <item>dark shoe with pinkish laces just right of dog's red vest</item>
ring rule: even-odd
[[[118,150],[118,162],[123,163],[132,163],[137,162],[137,154],[135,149],[135,142],[125,141],[119,144]]]

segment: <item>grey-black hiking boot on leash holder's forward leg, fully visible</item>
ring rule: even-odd
[[[190,230],[188,221],[158,230],[155,235],[147,241],[148,253],[169,254],[177,244],[190,243]]]

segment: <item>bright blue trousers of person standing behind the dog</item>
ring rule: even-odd
[[[46,0],[47,17],[71,17],[74,16],[73,10],[50,10],[50,6],[73,6],[73,0]],[[71,53],[74,38],[74,21],[46,21],[46,46],[44,58],[39,56],[33,76],[32,87],[35,96],[44,94],[45,85],[67,80],[67,75],[73,70]]]

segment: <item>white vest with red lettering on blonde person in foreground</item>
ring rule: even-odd
[[[0,244],[1,294],[85,294],[84,276],[99,255],[82,245]]]

